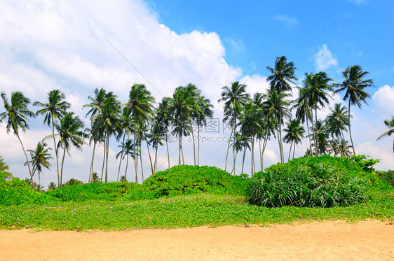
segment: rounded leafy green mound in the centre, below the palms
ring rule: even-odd
[[[215,195],[245,195],[246,180],[245,176],[231,176],[217,167],[175,166],[158,171],[142,185],[135,185],[125,193],[125,198],[158,199],[201,192]]]

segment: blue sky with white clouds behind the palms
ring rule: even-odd
[[[240,80],[250,94],[265,92],[266,66],[273,66],[277,55],[294,62],[299,84],[305,72],[320,70],[340,83],[341,71],[359,64],[370,72],[375,87],[368,90],[369,106],[351,108],[356,152],[381,159],[379,169],[394,169],[393,138],[376,142],[386,131],[383,120],[394,115],[392,1],[38,0],[3,1],[1,6],[0,90],[8,95],[21,90],[32,101],[43,101],[46,93],[59,89],[87,125],[82,105],[96,87],[113,91],[125,102],[130,86],[144,83],[160,101],[162,95],[172,95],[175,87],[194,83],[215,105],[215,118],[221,119],[217,99],[222,87]],[[341,95],[332,97],[329,106],[341,102]],[[2,101],[0,106],[3,108]],[[329,106],[319,112],[319,118],[327,115]],[[31,129],[22,134],[28,149],[50,134],[42,122],[40,117],[32,119]],[[219,140],[229,133],[204,135],[213,141],[201,145],[202,164],[223,168],[226,143]],[[307,146],[304,140],[296,157],[304,155]],[[278,162],[277,147],[277,141],[271,139],[264,167]],[[11,172],[27,177],[20,144],[15,136],[6,134],[4,123],[0,124],[0,148]],[[191,164],[192,146],[186,139],[184,150],[186,163]],[[287,150],[285,145],[285,155]],[[66,158],[64,180],[86,181],[91,151],[85,146]],[[117,151],[112,141],[112,180],[117,174]],[[171,164],[175,164],[176,143],[170,145],[170,154]],[[100,166],[102,148],[96,155]],[[158,155],[158,165],[166,166],[165,148]],[[144,155],[145,173],[149,173],[148,162]],[[52,164],[43,173],[44,185],[55,181],[55,162]],[[128,175],[133,181],[133,169]]]

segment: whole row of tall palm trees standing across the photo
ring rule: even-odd
[[[233,168],[231,172],[236,174],[235,162],[237,153],[243,151],[243,164],[245,163],[245,153],[251,151],[251,173],[257,167],[254,161],[254,146],[259,145],[260,169],[264,167],[264,150],[267,142],[274,137],[278,140],[280,151],[280,162],[285,162],[283,142],[290,143],[290,150],[287,160],[291,155],[294,157],[295,148],[304,139],[304,132],[307,131],[309,148],[307,154],[320,155],[322,153],[332,153],[334,155],[347,155],[348,148],[353,148],[353,138],[351,136],[351,105],[366,103],[369,94],[366,87],[372,86],[372,80],[365,80],[367,71],[362,71],[360,66],[348,66],[343,72],[345,80],[343,83],[331,83],[332,79],[325,72],[305,73],[302,86],[297,87],[295,81],[298,80],[294,72],[293,62],[287,62],[287,58],[277,57],[275,66],[267,66],[271,73],[267,78],[269,91],[266,94],[256,93],[252,97],[246,92],[246,85],[239,82],[231,83],[222,89],[219,102],[224,102],[224,121],[231,129],[229,143],[226,151],[226,164],[229,161],[229,151],[233,150]],[[299,89],[299,97],[294,101],[290,100],[292,88]],[[334,91],[333,87],[337,87]],[[318,120],[318,110],[325,108],[330,101],[330,92],[345,92],[344,100],[348,100],[348,108],[335,104],[331,109],[327,119]],[[178,164],[184,164],[184,151],[182,148],[182,138],[191,136],[193,142],[193,163],[200,164],[200,132],[201,127],[206,125],[207,118],[212,117],[212,104],[201,94],[195,85],[189,83],[175,89],[172,97],[163,97],[158,106],[151,92],[142,84],[135,84],[130,88],[128,101],[122,103],[113,92],[96,89],[93,96],[89,96],[90,102],[83,105],[88,108],[86,116],[90,118],[90,128],[83,130],[83,122],[74,113],[69,111],[70,104],[59,90],[48,93],[46,102],[35,101],[34,106],[39,106],[39,111],[33,113],[29,111],[27,105],[29,99],[22,92],[11,94],[11,103],[8,102],[6,94],[1,93],[6,111],[0,114],[0,119],[7,117],[7,131],[13,130],[18,137],[22,150],[27,159],[30,180],[33,184],[33,175],[39,174],[42,167],[50,167],[48,160],[50,154],[46,143],[41,141],[36,150],[28,150],[32,160],[29,160],[26,150],[20,140],[19,129],[24,132],[28,129],[27,120],[36,115],[44,116],[44,124],[51,127],[52,134],[45,139],[53,139],[53,150],[55,152],[57,167],[57,186],[62,184],[64,157],[69,154],[72,146],[81,148],[85,139],[90,138],[89,144],[93,143],[92,160],[88,181],[93,179],[95,148],[97,145],[104,146],[102,160],[101,181],[108,181],[109,164],[109,143],[111,137],[120,143],[120,148],[116,155],[119,160],[117,180],[119,180],[122,160],[126,161],[125,178],[127,178],[128,162],[131,157],[135,164],[135,181],[138,183],[138,173],[141,171],[144,179],[142,165],[142,152],[144,143],[147,146],[147,153],[151,167],[151,174],[158,169],[158,147],[166,144],[168,155],[168,167],[170,167],[170,153],[168,150],[168,134],[176,136],[178,139]],[[292,118],[292,110],[295,110],[295,117]],[[347,113],[347,115],[346,115]],[[306,122],[306,130],[303,123]],[[283,128],[283,125],[285,127]],[[196,127],[196,129],[194,128]],[[348,145],[344,132],[349,131],[351,146]],[[195,133],[197,132],[197,133]],[[283,132],[285,135],[283,136]],[[332,136],[332,141],[327,141],[327,137]],[[57,137],[57,139],[56,139]],[[196,149],[197,137],[197,149]],[[327,141],[327,142],[326,142]],[[339,149],[341,145],[342,149]],[[59,164],[59,153],[62,149],[62,161]],[[154,151],[154,160],[151,157],[151,149]],[[196,153],[197,151],[197,153]],[[39,156],[40,155],[40,156]],[[30,169],[33,164],[33,171]],[[39,164],[40,167],[37,165]]]

